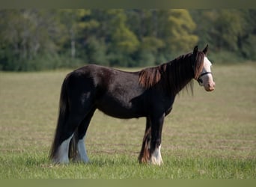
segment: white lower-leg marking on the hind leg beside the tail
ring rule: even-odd
[[[60,147],[58,147],[57,157],[53,159],[53,162],[59,164],[67,164],[69,162],[68,149],[70,147],[70,140],[72,137],[73,135],[71,135],[70,138],[67,138],[65,141],[61,143]]]

